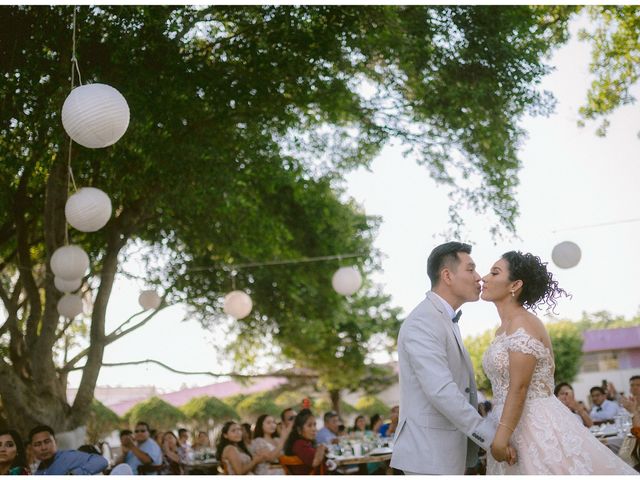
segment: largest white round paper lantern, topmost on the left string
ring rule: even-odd
[[[82,85],[74,88],[62,105],[62,126],[83,147],[108,147],[127,131],[129,105],[109,85]]]

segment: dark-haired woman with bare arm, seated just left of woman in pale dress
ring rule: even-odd
[[[216,448],[216,456],[223,463],[228,475],[250,474],[256,465],[267,461],[267,455],[256,453],[253,457],[242,440],[243,428],[230,421],[224,424]]]

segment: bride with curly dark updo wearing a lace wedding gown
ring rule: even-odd
[[[491,381],[497,425],[487,475],[636,474],[600,443],[553,394],[555,369],[544,324],[527,310],[548,310],[567,293],[530,253],[507,252],[483,279],[501,325],[482,365]],[[518,460],[508,465],[509,446]]]

